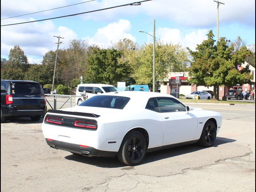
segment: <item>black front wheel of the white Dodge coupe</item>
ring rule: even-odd
[[[212,121],[207,121],[204,124],[198,144],[202,147],[211,147],[216,140],[216,135],[216,125]]]

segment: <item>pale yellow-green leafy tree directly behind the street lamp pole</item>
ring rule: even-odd
[[[152,84],[153,82],[153,44],[144,44],[135,54],[136,63],[133,77],[137,84]],[[156,42],[155,75],[156,82],[167,78],[171,71],[184,71],[188,62],[188,54],[180,45]],[[158,85],[156,85],[158,87]]]

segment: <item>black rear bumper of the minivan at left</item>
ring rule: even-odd
[[[8,116],[35,116],[35,115],[45,115],[47,112],[47,107],[42,110],[15,110],[12,105],[1,106],[2,115],[4,117]]]

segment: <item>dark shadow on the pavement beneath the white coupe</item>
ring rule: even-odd
[[[218,147],[225,143],[235,142],[236,140],[217,137],[214,146]],[[143,160],[142,164],[154,162],[157,160],[162,160],[174,156],[179,156],[187,153],[196,152],[198,150],[205,149],[204,147],[200,147],[197,144],[190,144],[180,147],[169,148],[165,150],[159,150],[156,152],[149,152],[146,154],[145,159]],[[94,165],[97,167],[104,167],[104,168],[118,168],[118,167],[127,167],[121,164],[117,157],[114,158],[107,158],[107,157],[86,157],[79,154],[72,154],[65,157],[67,160],[72,160],[76,162],[86,163],[90,165]],[[127,169],[127,168],[123,168]]]

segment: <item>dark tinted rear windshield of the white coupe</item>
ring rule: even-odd
[[[79,106],[123,109],[129,100],[128,97],[98,95],[82,102]]]

